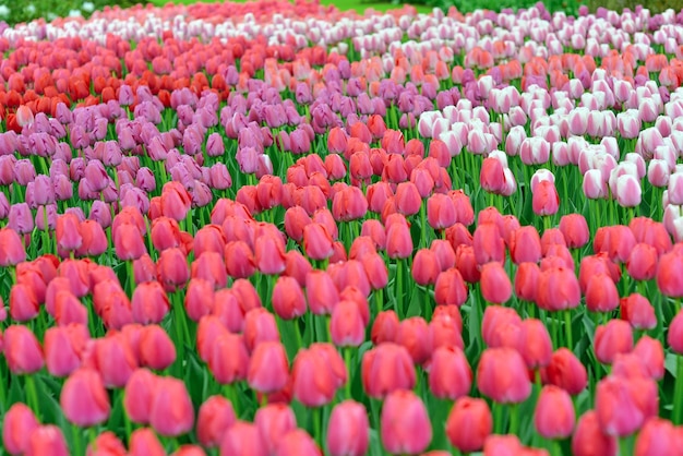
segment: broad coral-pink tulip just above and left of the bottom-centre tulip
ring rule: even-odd
[[[291,369],[295,397],[307,407],[329,404],[347,381],[348,373],[339,352],[327,344],[300,349]]]

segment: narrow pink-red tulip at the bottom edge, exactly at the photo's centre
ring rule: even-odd
[[[327,449],[332,456],[362,456],[370,443],[366,407],[345,400],[334,407],[327,425]]]

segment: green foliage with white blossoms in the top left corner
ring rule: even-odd
[[[38,17],[48,22],[69,15],[88,17],[107,5],[129,8],[137,3],[147,3],[147,0],[0,0],[0,21],[16,24]]]

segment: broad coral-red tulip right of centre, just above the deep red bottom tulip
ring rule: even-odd
[[[531,394],[524,358],[513,348],[487,348],[477,368],[481,394],[501,404],[517,404]]]

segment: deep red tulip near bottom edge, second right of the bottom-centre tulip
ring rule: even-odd
[[[446,421],[451,445],[463,453],[480,451],[492,431],[493,418],[486,400],[460,397],[455,401]]]

